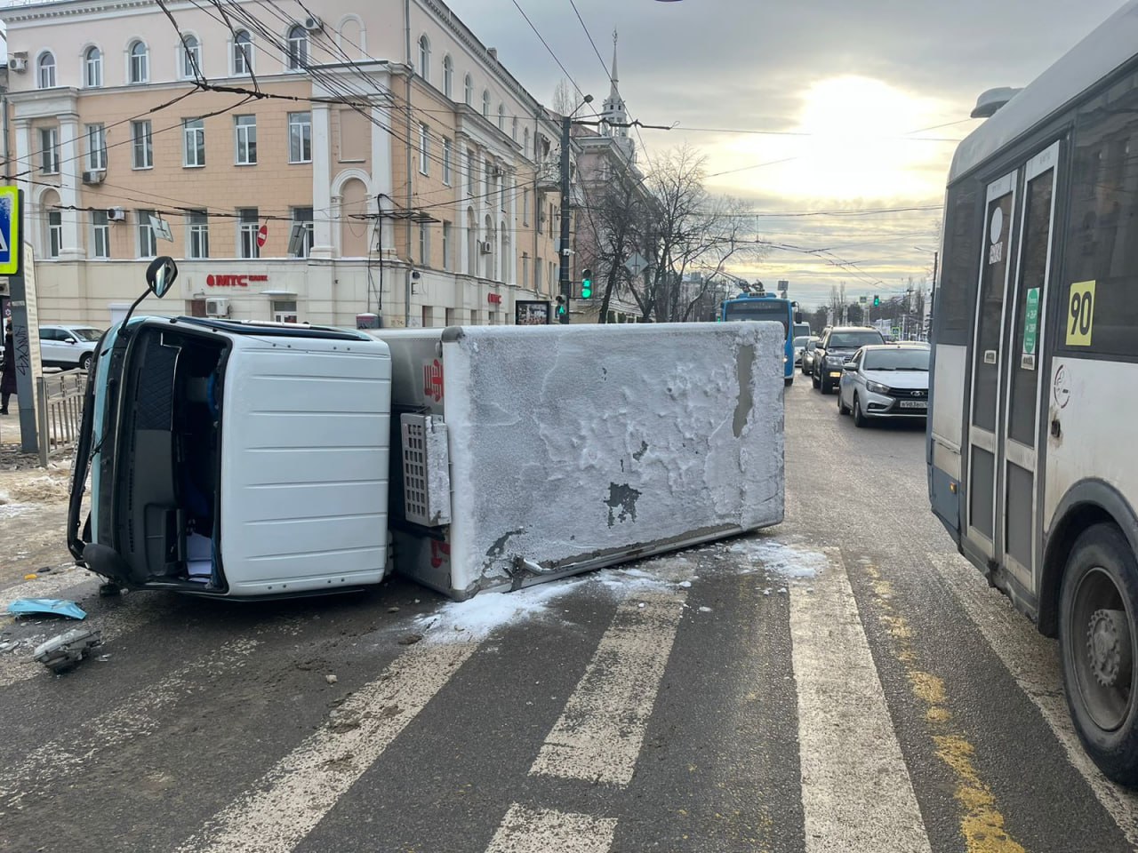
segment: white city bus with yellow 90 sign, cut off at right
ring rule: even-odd
[[[1058,638],[1085,748],[1138,785],[1138,1],[960,143],[943,258],[933,512]]]

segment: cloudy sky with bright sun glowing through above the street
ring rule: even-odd
[[[582,90],[597,103],[608,94],[570,0],[447,1],[544,102],[564,74],[518,6]],[[699,148],[715,175],[709,185],[752,201],[761,238],[785,247],[734,272],[768,284],[786,279],[808,306],[841,281],[851,297],[884,297],[909,276],[927,279],[954,140],[979,124],[968,119],[976,96],[1029,83],[1122,6],[574,2],[605,64],[619,31],[620,92],[632,116],[678,125],[642,131],[641,166],[651,169],[653,154],[685,142]],[[882,209],[894,212],[865,213]]]

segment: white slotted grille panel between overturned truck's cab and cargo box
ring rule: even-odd
[[[451,454],[446,424],[431,415],[399,416],[403,432],[403,514],[423,527],[451,523]]]

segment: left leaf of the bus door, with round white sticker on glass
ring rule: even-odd
[[[967,538],[974,549],[996,560],[997,456],[1000,341],[1004,304],[1012,268],[1012,232],[1017,172],[988,184],[982,227],[980,285],[972,341],[972,396],[968,400]]]

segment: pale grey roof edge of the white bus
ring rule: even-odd
[[[1012,98],[957,147],[948,182],[967,174],[1135,56],[1138,0],[1130,0]]]

